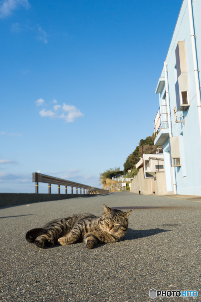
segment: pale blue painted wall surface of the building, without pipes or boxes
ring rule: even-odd
[[[196,35],[196,50],[198,58],[198,69],[201,70],[201,1],[193,0],[193,17]],[[176,106],[176,92],[175,82],[176,76],[176,57],[175,49],[178,41],[185,41],[187,76],[189,86],[190,106],[187,111],[177,112],[177,120],[184,118],[185,124],[175,123],[174,107]],[[168,86],[170,98],[171,111],[171,126],[172,136],[179,136],[180,150],[181,150],[181,167],[173,169],[176,177],[177,194],[187,195],[201,195],[201,139],[199,132],[199,119],[196,99],[196,87],[194,78],[193,55],[190,37],[190,23],[188,13],[188,2],[184,0],[181,6],[180,14],[177,19],[177,24],[174,29],[172,40],[169,46],[168,54],[165,59],[168,69]],[[164,77],[164,69],[161,76]],[[160,105],[164,104],[165,86],[163,91],[159,94]],[[157,137],[156,137],[157,140]],[[164,148],[164,162],[166,173],[166,187],[167,191],[171,189],[173,175],[170,171],[170,163],[168,158],[168,151],[170,150],[169,141],[166,140],[163,144]],[[171,152],[171,150],[170,150]],[[171,182],[171,185],[170,185]]]

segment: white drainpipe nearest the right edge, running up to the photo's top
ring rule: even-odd
[[[198,118],[199,118],[199,132],[201,137],[201,100],[200,100],[200,91],[199,91],[199,76],[198,76],[198,66],[197,66],[197,55],[196,55],[196,36],[194,33],[193,27],[193,11],[192,11],[192,2],[188,0],[188,13],[190,21],[190,37],[191,37],[191,47],[193,53],[193,67],[194,67],[194,77],[196,85],[196,97],[197,97],[197,108],[198,108]]]

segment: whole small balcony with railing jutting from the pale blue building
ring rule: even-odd
[[[154,120],[154,145],[163,145],[169,138],[167,105],[161,105]]]

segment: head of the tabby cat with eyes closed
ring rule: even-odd
[[[122,212],[120,210],[111,209],[104,204],[105,213],[102,214],[102,223],[104,229],[113,235],[123,236],[128,228],[128,216],[131,211]]]

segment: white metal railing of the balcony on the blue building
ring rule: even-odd
[[[161,105],[156,114],[154,120],[154,136],[156,138],[157,134],[161,129],[168,128],[168,113],[167,105]]]

